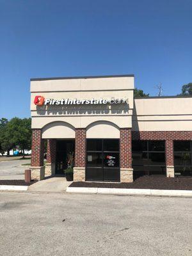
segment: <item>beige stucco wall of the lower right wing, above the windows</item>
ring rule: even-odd
[[[191,131],[192,97],[135,99],[133,131]]]

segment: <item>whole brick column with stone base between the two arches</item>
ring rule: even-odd
[[[76,129],[76,148],[75,148],[75,166],[74,181],[85,180],[86,166],[86,129]]]

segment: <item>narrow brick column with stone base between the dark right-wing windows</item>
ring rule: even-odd
[[[166,153],[166,177],[174,177],[174,154],[173,154],[173,140],[165,141]]]

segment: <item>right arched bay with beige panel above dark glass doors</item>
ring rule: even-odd
[[[120,181],[120,130],[111,122],[86,129],[86,180]]]

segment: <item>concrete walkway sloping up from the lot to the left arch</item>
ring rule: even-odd
[[[67,181],[65,177],[52,177],[32,184],[29,186],[28,191],[65,192],[71,183],[72,181]]]

